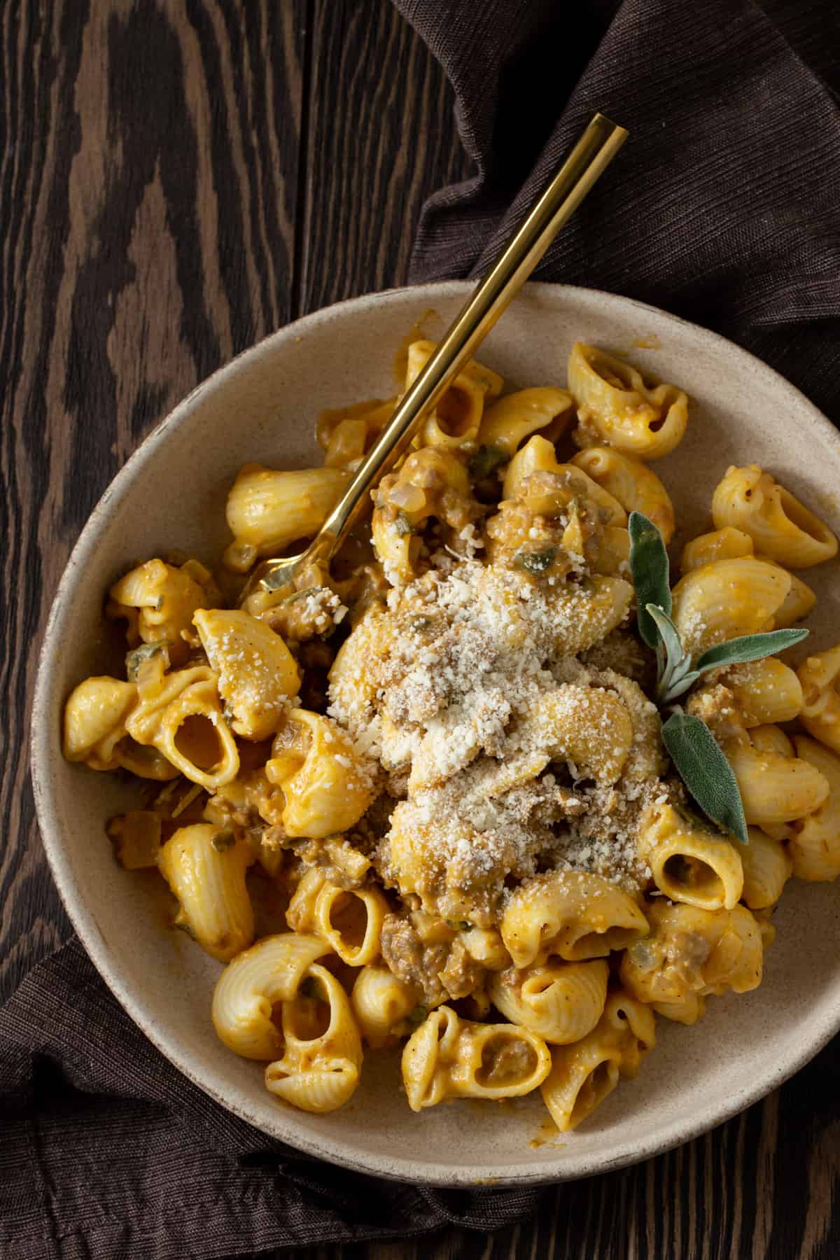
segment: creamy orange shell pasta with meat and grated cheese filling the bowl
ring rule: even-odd
[[[402,388],[433,349],[408,345]],[[685,392],[578,341],[565,379],[467,363],[331,571],[239,606],[397,402],[324,412],[322,467],[244,465],[222,556],[117,577],[115,650],[67,697],[63,751],[133,776],[115,858],[162,881],[171,927],[214,960],[215,1034],[278,1106],[341,1108],[390,1055],[409,1116],[531,1095],[568,1133],[662,1028],[691,1036],[759,985],[791,879],[840,876],[840,644],[696,667],[807,617],[791,570],[837,544],[758,465],[718,470],[686,538],[649,466],[685,435]],[[673,621],[700,669],[680,706],[738,788],[737,834],[700,816],[665,746],[639,514],[674,547]]]

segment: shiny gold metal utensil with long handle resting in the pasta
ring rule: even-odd
[[[502,311],[525,284],[549,244],[627,139],[625,127],[596,113],[557,175],[513,234],[499,261],[479,282],[424,368],[397,404],[387,427],[319,533],[300,556],[264,559],[251,575],[241,602],[256,591],[295,583],[305,570],[326,570],[368,504],[368,495],[408,449],[423,417],[452,384]]]

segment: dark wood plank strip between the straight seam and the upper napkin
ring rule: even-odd
[[[314,0],[301,312],[404,285],[419,210],[470,174],[446,77],[388,0]]]

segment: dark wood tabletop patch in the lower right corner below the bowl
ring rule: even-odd
[[[417,1244],[290,1260],[830,1260],[840,1245],[836,1043],[781,1090],[676,1150],[548,1188],[536,1216]]]

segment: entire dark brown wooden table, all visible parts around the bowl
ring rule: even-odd
[[[306,311],[404,284],[423,199],[468,171],[443,74],[387,0],[8,0],[0,16],[5,998],[71,931],[26,731],[88,513],[220,363]],[[516,1228],[292,1255],[829,1260],[839,1070],[835,1041],[744,1115],[549,1189]]]

